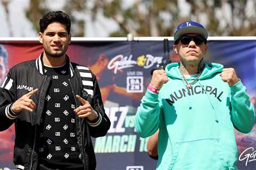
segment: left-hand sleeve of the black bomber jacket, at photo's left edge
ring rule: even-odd
[[[16,100],[16,94],[15,79],[10,70],[0,87],[0,131],[8,129],[18,116],[11,111],[12,104]]]

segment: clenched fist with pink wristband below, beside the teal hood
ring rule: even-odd
[[[150,84],[157,89],[161,89],[163,84],[168,81],[168,77],[164,70],[155,70],[153,72]]]

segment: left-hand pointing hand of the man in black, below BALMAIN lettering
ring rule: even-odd
[[[12,112],[20,113],[24,109],[29,112],[33,112],[36,108],[36,104],[32,99],[30,99],[30,97],[33,96],[37,91],[38,89],[32,90],[16,100],[12,105]]]

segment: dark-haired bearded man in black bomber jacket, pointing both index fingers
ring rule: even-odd
[[[67,14],[49,12],[39,24],[43,53],[14,66],[0,88],[0,131],[15,123],[18,169],[95,169],[91,137],[110,127],[97,79],[66,55]]]

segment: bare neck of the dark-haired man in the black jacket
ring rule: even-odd
[[[65,64],[66,54],[61,57],[51,57],[49,55],[43,54],[43,63],[46,66],[58,67]]]

